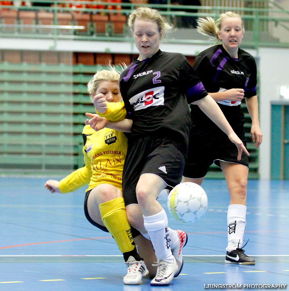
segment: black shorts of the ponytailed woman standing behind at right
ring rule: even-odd
[[[189,143],[189,153],[183,176],[191,179],[203,178],[213,163],[220,168],[220,161],[240,164],[249,168],[248,156],[242,152],[241,160],[238,161],[237,147],[229,141],[227,136],[226,139],[223,142],[219,139],[209,145]],[[245,139],[242,140],[246,147]]]

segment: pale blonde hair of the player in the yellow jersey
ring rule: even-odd
[[[123,67],[121,67],[123,68]],[[120,72],[112,65],[109,65],[107,70],[97,71],[87,84],[87,89],[91,102],[93,96],[102,81],[119,82]]]

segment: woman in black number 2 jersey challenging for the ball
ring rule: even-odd
[[[123,170],[127,217],[153,244],[157,275],[150,284],[167,286],[182,269],[187,234],[168,227],[166,212],[157,196],[182,179],[190,127],[188,103],[195,102],[226,132],[237,145],[239,156],[247,150],[185,56],[159,49],[164,32],[171,28],[166,19],[155,9],[141,7],[130,14],[128,25],[139,51],[138,58],[120,76],[123,111],[130,119],[114,118],[113,112],[119,111],[114,111],[111,103],[107,104],[107,111],[96,108],[112,121],[121,120],[108,121],[108,127],[131,132]],[[102,118],[87,116],[92,119],[86,124],[97,130]]]

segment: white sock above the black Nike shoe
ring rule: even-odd
[[[228,246],[226,251],[230,252],[239,249],[243,244],[243,236],[246,226],[246,210],[245,205],[232,204],[228,207]]]

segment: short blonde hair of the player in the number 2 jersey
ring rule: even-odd
[[[161,30],[167,32],[173,27],[173,25],[167,22],[167,20],[162,17],[156,9],[152,9],[149,7],[139,7],[133,10],[132,13],[130,13],[127,24],[130,27],[131,31],[134,31],[134,22],[136,19],[157,22],[159,32]]]

